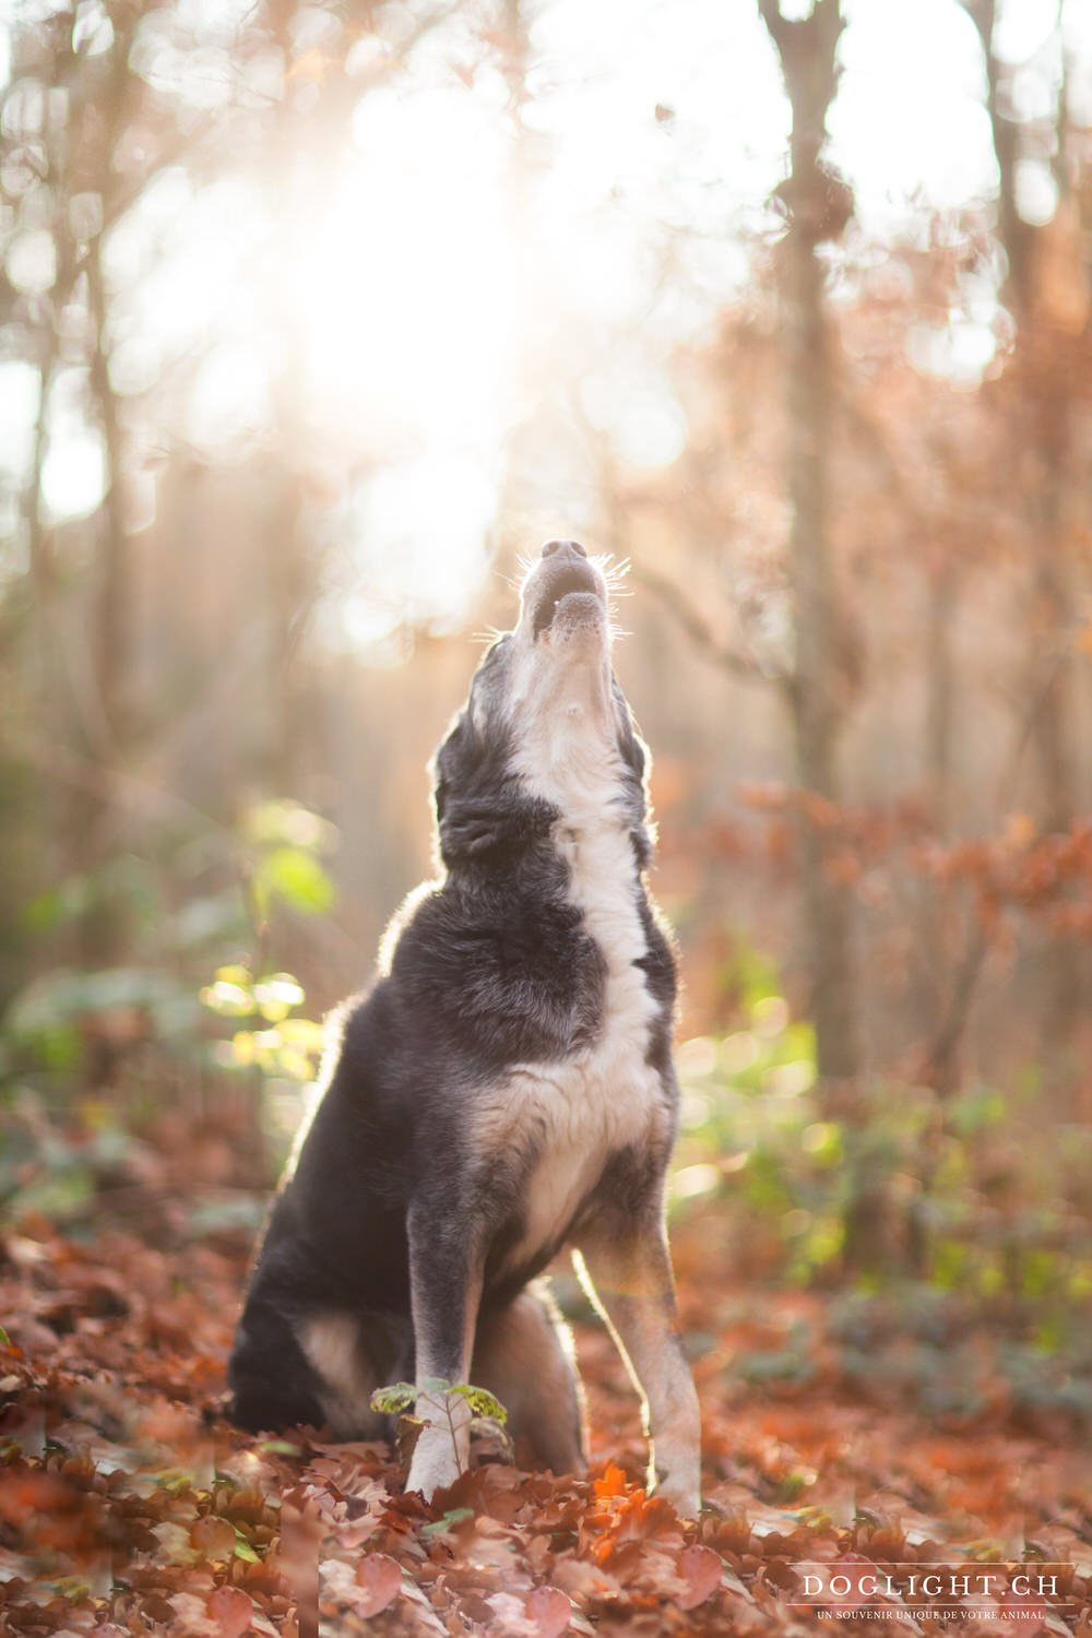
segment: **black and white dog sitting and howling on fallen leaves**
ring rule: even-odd
[[[529,1289],[570,1245],[643,1396],[650,1477],[697,1514],[663,1209],[675,963],[643,886],[645,773],[604,575],[550,541],[435,757],[442,880],[342,1014],[277,1199],[231,1358],[242,1427],[381,1437],[372,1391],[432,1379],[408,1477],[427,1499],[468,1451],[467,1400],[444,1405],[435,1379],[473,1381],[542,1466],[581,1471],[571,1355]]]

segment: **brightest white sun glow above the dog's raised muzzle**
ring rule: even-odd
[[[522,316],[503,133],[431,92],[365,102],[354,136],[288,264],[309,395],[368,450],[488,449]]]

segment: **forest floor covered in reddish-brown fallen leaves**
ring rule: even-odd
[[[324,1633],[643,1638],[815,1633],[833,1612],[1092,1638],[1092,1459],[1074,1427],[1018,1425],[1002,1400],[927,1415],[855,1386],[822,1346],[805,1371],[742,1376],[733,1360],[776,1363],[802,1324],[822,1337],[832,1299],[733,1286],[699,1219],[675,1235],[707,1502],[684,1523],[645,1497],[637,1402],[591,1320],[580,1481],[486,1464],[424,1507],[386,1445],[236,1432],[210,1407],[250,1237],[192,1238],[169,1215],[0,1237],[2,1631],[308,1638],[318,1612]],[[894,1566],[873,1595],[866,1577]],[[1009,1587],[1013,1566],[1027,1584]],[[928,1597],[928,1572],[969,1590],[945,1579]]]

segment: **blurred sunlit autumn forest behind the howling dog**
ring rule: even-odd
[[[223,1386],[319,1020],[431,870],[427,757],[560,536],[630,563],[711,1417],[1046,1441],[1089,1558],[1087,5],[11,0],[0,128],[16,1466],[88,1348],[128,1369],[111,1315],[205,1361],[159,1392]],[[822,1477],[755,1451],[714,1479]],[[180,1618],[134,1586],[126,1620]]]

